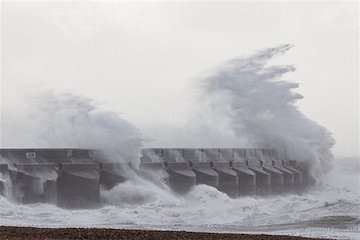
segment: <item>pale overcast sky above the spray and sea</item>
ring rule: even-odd
[[[295,45],[301,110],[359,154],[358,5],[348,3],[2,2],[2,94],[28,87],[102,101],[140,128],[179,125],[196,82],[223,61]]]

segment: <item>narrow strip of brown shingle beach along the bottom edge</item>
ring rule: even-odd
[[[1,227],[0,240],[310,240],[295,236],[98,228]],[[317,239],[319,240],[319,239]]]

